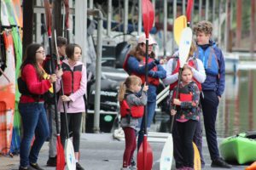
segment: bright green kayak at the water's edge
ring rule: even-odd
[[[224,139],[219,150],[226,161],[239,164],[256,161],[256,132],[239,133]]]

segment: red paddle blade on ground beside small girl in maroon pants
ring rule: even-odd
[[[148,137],[144,136],[143,144],[141,144],[137,153],[137,169],[138,170],[151,170],[153,165],[153,153]]]

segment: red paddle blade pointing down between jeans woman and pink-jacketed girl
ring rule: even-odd
[[[57,164],[56,170],[64,170],[65,168],[65,155],[63,146],[61,144],[61,137],[57,135]]]

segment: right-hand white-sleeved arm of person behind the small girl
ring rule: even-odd
[[[193,77],[197,82],[203,83],[207,78],[206,71],[200,59],[196,59],[196,62],[197,70],[192,67]]]

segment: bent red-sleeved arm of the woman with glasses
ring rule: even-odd
[[[44,94],[50,88],[49,80],[38,82],[36,69],[33,65],[26,65],[23,68],[22,78],[26,82],[27,89],[32,94]]]

